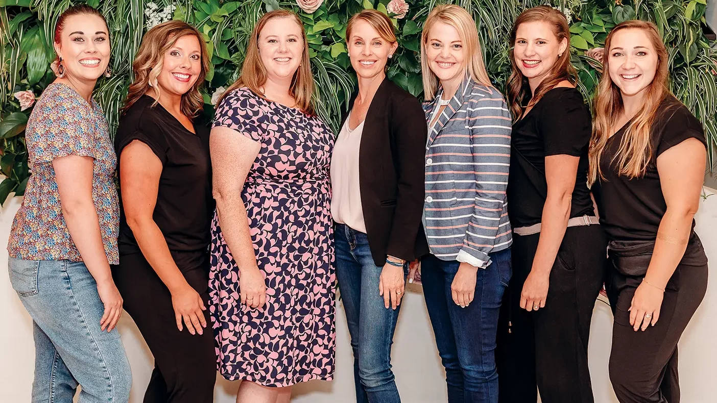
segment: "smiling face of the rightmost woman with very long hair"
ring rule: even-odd
[[[623,97],[640,94],[652,84],[658,58],[645,31],[622,29],[615,32],[607,52],[610,79]]]

